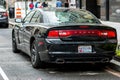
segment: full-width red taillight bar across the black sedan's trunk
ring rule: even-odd
[[[113,30],[51,30],[48,33],[48,38],[65,38],[70,36],[115,38],[116,32]]]

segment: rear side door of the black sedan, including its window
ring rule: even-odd
[[[25,50],[28,51],[27,53],[30,54],[30,38],[31,36],[34,36],[34,31],[38,27],[37,24],[42,22],[40,21],[41,13],[40,11],[35,11],[34,13],[31,13],[32,17],[30,19],[29,24],[27,24],[24,28],[24,45]]]

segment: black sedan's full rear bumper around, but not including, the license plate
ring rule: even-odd
[[[38,46],[40,59],[48,63],[109,62],[115,55],[117,42],[44,42]],[[91,53],[78,53],[79,45],[91,45]]]

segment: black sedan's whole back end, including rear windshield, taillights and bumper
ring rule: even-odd
[[[116,30],[102,25],[90,12],[59,8],[46,10],[44,15],[47,29],[42,29],[38,43],[42,61],[97,63],[109,62],[115,55]]]

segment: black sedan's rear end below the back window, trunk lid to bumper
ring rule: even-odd
[[[45,62],[109,62],[115,55],[117,35],[104,25],[59,26],[47,31],[43,43],[39,53]]]

